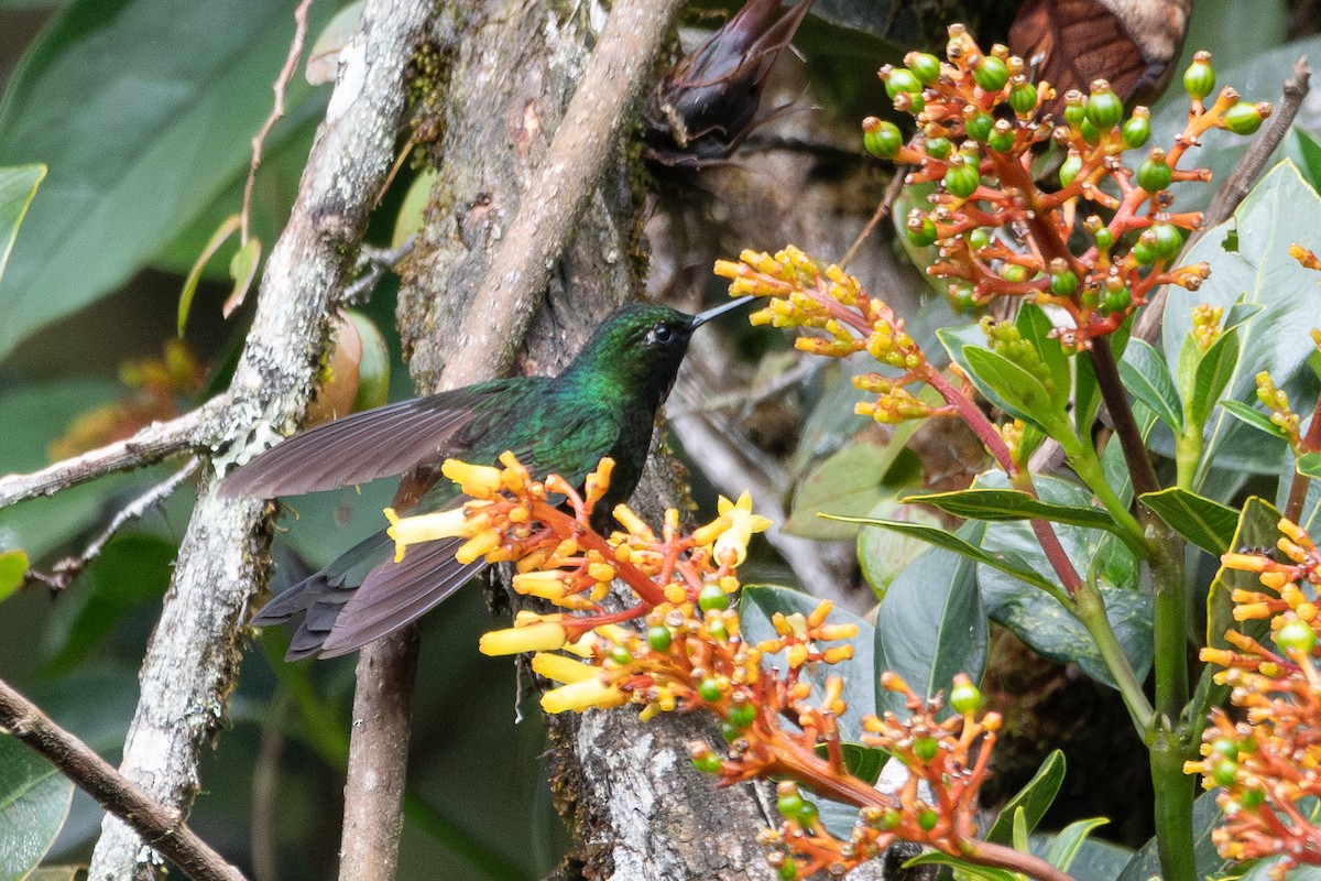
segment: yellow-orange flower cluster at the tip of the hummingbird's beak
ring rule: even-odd
[[[867,351],[894,371],[853,378],[857,388],[877,395],[875,402],[857,404],[859,413],[880,423],[901,423],[954,412],[951,405],[929,404],[909,390],[917,383],[939,384],[939,371],[904,330],[904,320],[869,296],[857,279],[838,265],[822,271],[791,244],[775,256],[744,251],[738,260],[717,260],[715,272],[731,279],[731,296],[771,297],[752,314],[754,325],[810,328],[824,335],[798,337],[794,345],[799,350],[835,358]]]

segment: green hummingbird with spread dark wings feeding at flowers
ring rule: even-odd
[[[600,510],[610,511],[638,485],[657,412],[694,330],[752,299],[696,316],[621,306],[557,376],[493,379],[337,419],[259,454],[226,477],[219,493],[276,498],[403,474],[395,509],[424,514],[466,498],[441,479],[445,458],[495,465],[511,450],[535,478],[553,473],[579,486],[609,456],[614,472]],[[250,623],[303,616],[289,660],[347,654],[416,619],[481,572],[485,560],[454,560],[462,542],[428,542],[396,563],[394,540],[382,530],[276,596]]]

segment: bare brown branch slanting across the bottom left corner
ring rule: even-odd
[[[193,881],[243,881],[238,869],[188,828],[178,811],[156,802],[122,777],[4,680],[0,680],[0,728],[48,758]]]

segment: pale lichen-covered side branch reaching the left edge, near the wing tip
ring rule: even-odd
[[[229,395],[222,394],[168,423],[153,423],[132,437],[48,465],[40,472],[0,477],[0,507],[37,495],[54,495],[106,474],[152,465],[174,453],[202,452],[225,436],[225,425],[230,424],[226,421],[229,405]]]

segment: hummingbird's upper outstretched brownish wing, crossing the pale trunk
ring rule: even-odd
[[[221,495],[276,498],[332,490],[402,474],[441,453],[461,454],[465,429],[513,382],[415,398],[301,432],[226,477]]]

